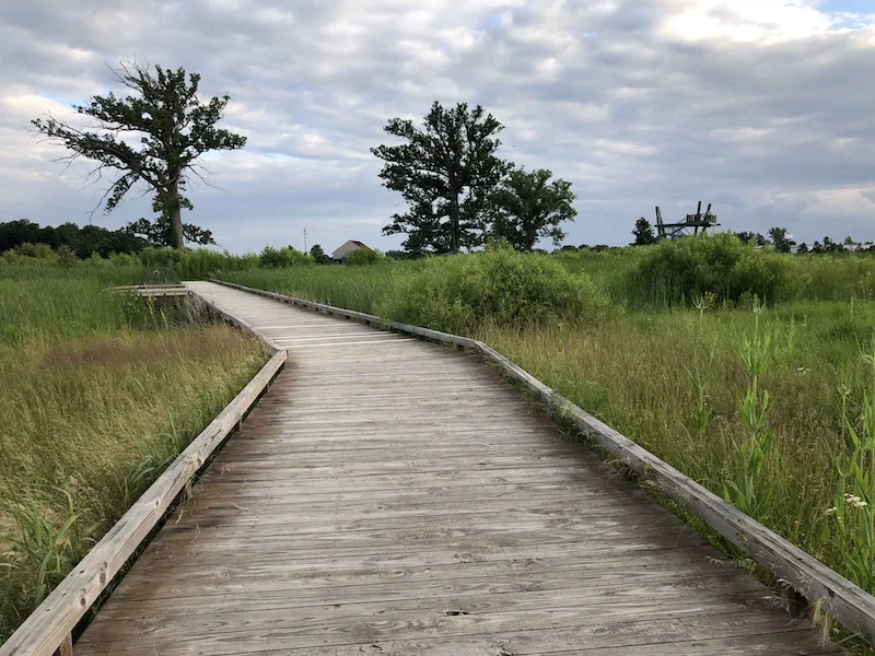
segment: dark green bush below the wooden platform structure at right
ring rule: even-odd
[[[629,273],[628,289],[654,304],[790,297],[801,283],[792,257],[742,244],[731,233],[692,236],[651,246]]]

